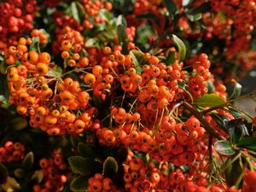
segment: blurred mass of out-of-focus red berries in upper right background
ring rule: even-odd
[[[247,72],[251,70],[255,63],[254,51],[251,54],[247,54],[250,48],[249,42],[252,40],[253,35],[253,24],[255,25],[256,15],[256,2],[255,0],[247,1],[194,1],[189,3],[190,9],[197,9],[206,3],[209,3],[209,10],[203,13],[201,21],[204,27],[200,26],[200,23],[191,22],[186,15],[187,7],[183,7],[183,1],[173,1],[178,11],[178,20],[176,26],[166,26],[166,22],[172,23],[171,18],[166,19],[164,15],[167,14],[168,10],[165,8],[162,1],[141,1],[137,0],[134,3],[134,11],[132,15],[127,16],[127,20],[131,20],[133,25],[137,27],[145,25],[145,22],[136,21],[135,18],[141,15],[154,14],[157,16],[158,21],[151,20],[154,29],[159,32],[158,37],[154,35],[148,38],[148,43],[154,45],[157,38],[160,39],[160,47],[169,47],[172,44],[171,38],[169,38],[165,32],[175,32],[175,30],[181,31],[183,38],[191,39],[196,41],[204,38],[209,44],[214,44],[216,39],[223,41],[226,49],[216,49],[212,47],[209,49],[207,54],[216,55],[216,58],[212,60],[212,67],[214,70],[212,73],[218,74],[223,77],[223,73],[219,72],[223,69],[229,69],[233,73],[229,74],[229,77],[223,77],[225,81],[229,81],[232,78],[242,77],[242,73],[236,74],[234,68],[227,63],[233,63],[233,67],[240,67],[241,70]],[[151,19],[151,18],[149,18]],[[160,22],[160,23],[156,23]],[[163,32],[164,31],[164,32]],[[163,36],[161,35],[163,34]],[[242,54],[241,54],[242,52]],[[219,61],[218,55],[223,55],[226,62]],[[220,60],[223,60],[221,58]],[[230,69],[231,68],[231,69]]]

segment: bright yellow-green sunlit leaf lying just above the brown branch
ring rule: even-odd
[[[200,98],[195,100],[195,104],[198,107],[218,107],[218,106],[226,106],[227,103],[224,102],[217,94],[211,93],[211,94],[205,94],[201,96]]]

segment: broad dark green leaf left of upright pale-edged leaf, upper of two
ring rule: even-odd
[[[68,158],[68,164],[73,173],[88,175],[95,166],[95,161],[81,156],[72,156]]]

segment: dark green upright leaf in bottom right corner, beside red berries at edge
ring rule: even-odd
[[[232,159],[227,160],[226,163],[229,163]],[[242,167],[240,160],[235,160],[225,171],[225,178],[228,187],[234,186],[237,179],[242,174]],[[239,184],[241,186],[241,183]]]

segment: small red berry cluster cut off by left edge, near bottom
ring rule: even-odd
[[[25,147],[21,143],[6,142],[0,148],[0,163],[10,163],[22,160],[25,156]]]

